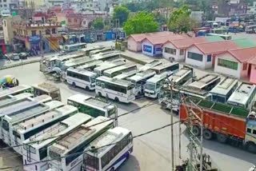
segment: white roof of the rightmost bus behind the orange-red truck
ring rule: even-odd
[[[248,99],[250,98],[250,94],[253,93],[254,89],[255,85],[242,82],[242,84],[238,86],[238,89],[236,89],[234,93],[231,94],[227,102],[234,102],[245,105],[246,101],[248,101]]]

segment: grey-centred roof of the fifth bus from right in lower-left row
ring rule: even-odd
[[[50,101],[46,104],[38,103],[37,105],[26,108],[18,113],[11,113],[6,116],[6,120],[10,121],[10,123],[24,121],[26,118],[37,116],[39,113],[46,112],[50,109],[56,109],[63,105],[64,104],[61,101]]]

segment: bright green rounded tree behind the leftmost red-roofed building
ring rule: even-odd
[[[130,16],[123,29],[126,31],[127,35],[151,33],[158,31],[158,22],[154,21],[153,14],[141,11]]]

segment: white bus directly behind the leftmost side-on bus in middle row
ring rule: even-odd
[[[75,60],[70,60],[70,61],[67,61],[67,62],[63,63],[63,65],[62,65],[62,78],[64,80],[66,80],[66,70],[68,70],[69,68],[76,68],[78,66],[85,65],[87,62],[92,62],[92,61],[94,61],[94,59],[83,57],[83,58],[77,58]]]

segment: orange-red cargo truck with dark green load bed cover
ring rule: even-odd
[[[191,105],[191,101],[194,105]],[[190,109],[198,117],[188,119]],[[206,140],[216,136],[222,143],[231,141],[236,145],[242,144],[251,153],[256,153],[256,113],[254,111],[194,97],[186,98],[180,105],[180,120],[186,125],[189,121],[192,122],[192,131],[196,136],[201,133],[198,118],[202,118],[202,113],[204,127],[202,136]]]

